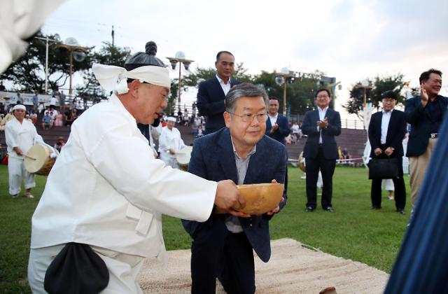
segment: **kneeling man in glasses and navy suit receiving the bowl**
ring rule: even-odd
[[[265,136],[267,94],[255,85],[230,90],[224,113],[226,128],[195,140],[188,172],[204,179],[238,184],[283,183],[286,148]],[[262,216],[237,218],[215,209],[205,223],[182,221],[193,237],[192,293],[215,293],[216,277],[227,293],[254,293],[253,250],[267,262],[271,255],[269,219],[286,204]]]

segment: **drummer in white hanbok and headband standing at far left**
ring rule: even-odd
[[[43,144],[43,139],[37,134],[36,127],[30,120],[25,120],[26,108],[18,104],[13,108],[13,119],[6,123],[5,137],[8,146],[9,193],[18,197],[22,179],[25,180],[25,196],[33,198],[31,188],[36,186],[34,174],[25,169],[25,154],[34,144]]]

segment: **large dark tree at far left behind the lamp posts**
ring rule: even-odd
[[[36,36],[45,38],[38,32]],[[55,39],[55,35],[48,35]],[[69,78],[69,52],[58,48],[61,42],[50,43],[48,46],[48,84],[49,89],[58,89]],[[90,51],[86,53],[83,62],[73,62],[73,73],[90,67]],[[0,79],[11,80],[14,90],[26,92],[43,92],[45,90],[45,41],[31,38],[25,55],[13,62],[9,68],[0,75]]]

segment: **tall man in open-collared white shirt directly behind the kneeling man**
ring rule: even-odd
[[[204,80],[197,91],[197,109],[200,116],[206,117],[205,133],[210,134],[225,127],[223,113],[225,111],[225,95],[239,81],[232,79],[235,57],[228,51],[220,51],[216,55],[216,76]]]

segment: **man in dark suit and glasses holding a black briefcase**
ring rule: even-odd
[[[397,102],[397,94],[386,91],[381,95],[383,111],[372,115],[369,124],[369,141],[372,146],[370,157],[397,158],[398,177],[392,179],[395,186],[395,208],[400,214],[405,214],[406,188],[403,180],[403,144],[406,134],[405,113],[393,109]],[[372,180],[372,209],[381,209],[381,179]]]

